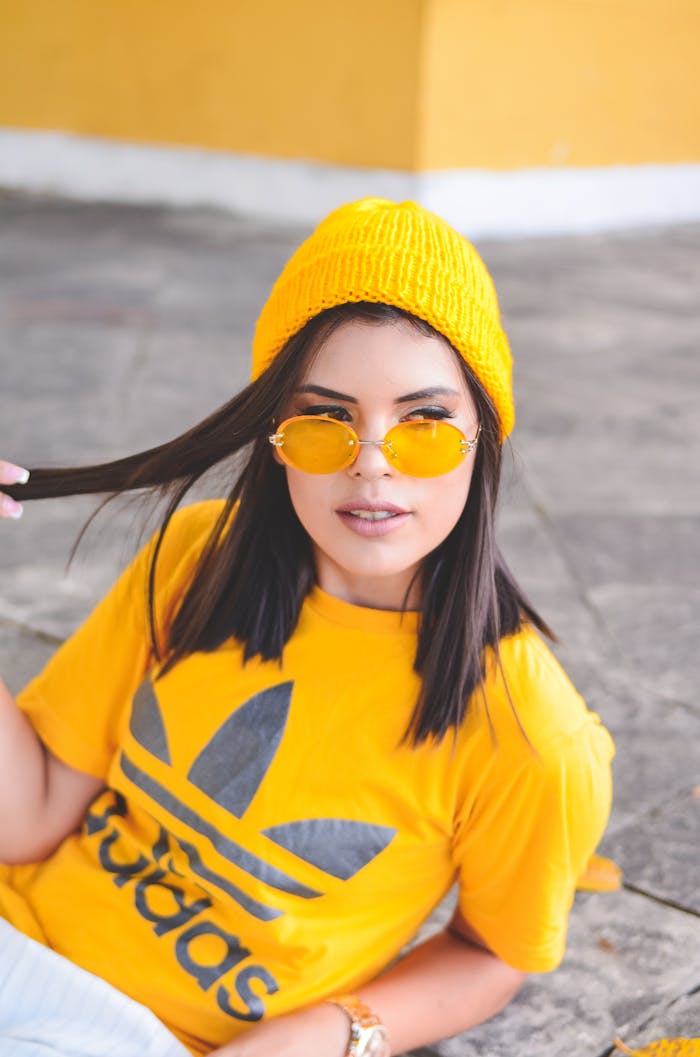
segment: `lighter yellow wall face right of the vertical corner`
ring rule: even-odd
[[[435,0],[418,166],[700,160],[698,0]]]

